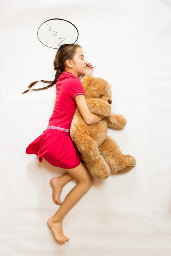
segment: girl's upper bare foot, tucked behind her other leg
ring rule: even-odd
[[[62,202],[60,201],[60,194],[63,186],[59,182],[59,177],[52,178],[50,183],[53,189],[53,192],[52,192],[53,200],[56,202],[56,204],[62,204]]]

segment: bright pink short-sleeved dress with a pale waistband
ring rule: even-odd
[[[38,155],[53,166],[64,169],[75,168],[80,164],[80,156],[76,144],[70,136],[70,126],[76,111],[74,97],[85,95],[82,83],[70,72],[62,72],[56,82],[56,101],[49,125],[26,148],[27,154]]]

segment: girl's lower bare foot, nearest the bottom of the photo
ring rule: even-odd
[[[48,226],[50,227],[54,238],[59,242],[59,243],[65,243],[66,241],[69,240],[69,237],[65,236],[63,233],[62,229],[62,222],[60,221],[54,221],[53,216],[49,218],[47,221]]]

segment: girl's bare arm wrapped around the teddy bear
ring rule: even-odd
[[[93,124],[104,118],[104,116],[95,115],[89,110],[87,106],[87,101],[84,95],[78,94],[75,97],[75,101],[76,101],[78,110],[80,111],[80,114],[82,115],[82,118],[84,119],[84,122],[86,124]]]

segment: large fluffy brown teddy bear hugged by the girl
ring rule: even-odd
[[[111,173],[134,167],[136,160],[131,155],[122,155],[114,139],[107,136],[107,128],[123,128],[127,120],[119,114],[111,113],[111,85],[92,75],[81,79],[89,110],[104,119],[86,124],[78,108],[73,115],[70,135],[81,153],[81,161],[93,177],[106,179]]]

